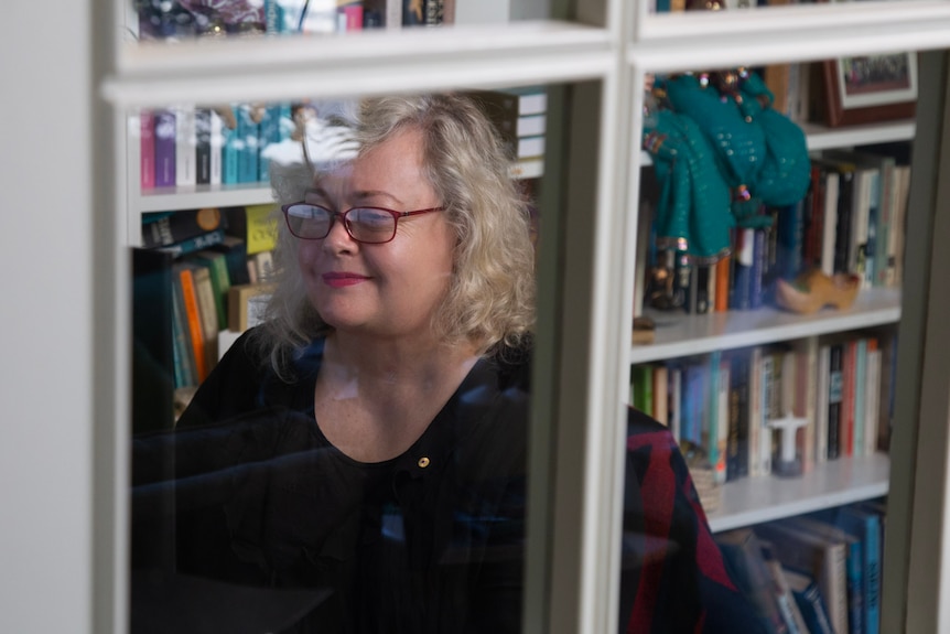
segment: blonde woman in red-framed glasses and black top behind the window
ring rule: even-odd
[[[283,206],[268,319],[201,386],[174,441],[175,572],[320,592],[277,610],[285,593],[180,590],[186,609],[133,603],[133,630],[160,613],[225,631],[247,625],[241,605],[280,615],[259,631],[520,631],[527,206],[465,98],[370,99],[355,133],[356,158]],[[756,631],[672,437],[633,410],[627,474],[620,626]],[[158,594],[144,603],[166,608]]]

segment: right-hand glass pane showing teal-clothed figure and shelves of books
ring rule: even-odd
[[[704,561],[706,626],[879,626],[915,65],[649,78],[627,497],[660,477],[681,495],[644,523],[667,539],[657,574],[671,550]],[[625,562],[650,554],[628,536]]]

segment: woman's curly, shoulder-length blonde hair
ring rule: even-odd
[[[432,315],[433,332],[485,354],[521,344],[535,324],[535,252],[529,204],[509,175],[509,151],[471,98],[439,94],[363,100],[354,125],[358,152],[406,129],[422,132],[423,172],[456,236],[452,281]],[[294,351],[332,327],[307,300],[296,238],[283,222],[278,226],[274,291],[255,341],[290,379]]]

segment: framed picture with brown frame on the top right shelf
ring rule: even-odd
[[[914,116],[917,55],[892,53],[824,62],[825,123],[873,123]]]

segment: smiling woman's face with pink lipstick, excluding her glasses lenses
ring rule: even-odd
[[[414,129],[323,175],[305,200],[339,213],[442,204],[423,176],[421,133]],[[337,218],[325,238],[300,241],[298,260],[310,301],[338,332],[424,336],[449,289],[454,246],[442,212],[399,218],[396,237],[375,245],[354,240]]]

